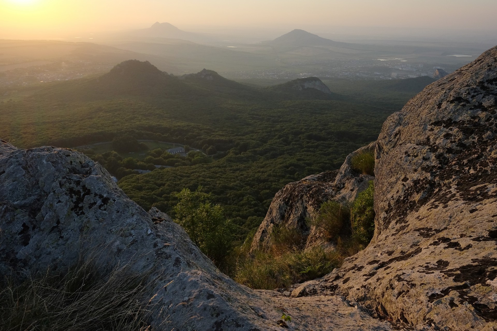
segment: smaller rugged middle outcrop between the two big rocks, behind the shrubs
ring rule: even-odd
[[[323,238],[319,229],[310,226],[308,220],[319,214],[323,202],[336,200],[346,205],[367,188],[374,177],[357,173],[352,169],[350,160],[357,153],[374,150],[375,146],[376,143],[372,142],[349,154],[338,171],[308,176],[281,189],[271,201],[266,217],[252,240],[250,251],[268,248],[271,233],[277,227],[297,230],[303,235],[306,248],[320,245],[325,249],[333,249],[333,244]]]

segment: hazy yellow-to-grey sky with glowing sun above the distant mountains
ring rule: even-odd
[[[0,0],[0,38],[149,27],[497,30],[497,0]]]

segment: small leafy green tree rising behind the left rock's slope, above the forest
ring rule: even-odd
[[[221,206],[212,204],[211,195],[203,193],[202,187],[194,192],[183,189],[176,197],[179,201],[174,207],[174,221],[215,265],[225,269],[232,250],[233,226]]]

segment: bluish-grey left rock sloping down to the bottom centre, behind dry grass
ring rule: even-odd
[[[96,254],[95,254],[96,253]],[[129,264],[155,286],[153,330],[392,330],[344,297],[291,299],[221,273],[185,231],[128,199],[99,164],[70,149],[0,142],[0,273],[58,270],[80,254]],[[278,321],[293,317],[288,329]]]

